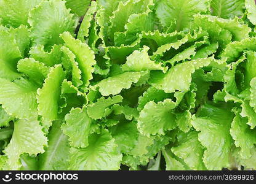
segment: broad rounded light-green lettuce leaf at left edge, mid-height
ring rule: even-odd
[[[14,82],[0,79],[0,83],[0,104],[9,115],[15,118],[30,118],[38,115],[36,109],[38,86],[23,78]]]

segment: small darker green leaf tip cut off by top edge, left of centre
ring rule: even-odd
[[[66,8],[71,9],[79,17],[86,13],[87,7],[90,5],[90,0],[65,0]]]

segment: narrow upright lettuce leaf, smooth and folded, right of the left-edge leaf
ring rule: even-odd
[[[38,89],[38,113],[42,116],[42,125],[48,129],[52,121],[58,118],[58,101],[65,73],[60,64],[51,67],[44,85]]]

